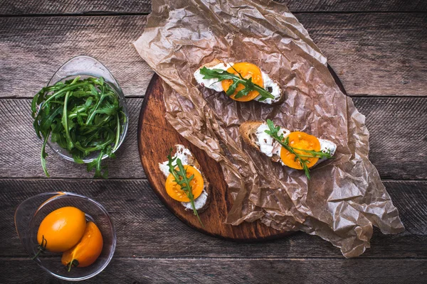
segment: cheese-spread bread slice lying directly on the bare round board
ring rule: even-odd
[[[206,179],[204,173],[201,171],[199,162],[196,160],[196,158],[194,158],[194,155],[191,153],[191,151],[189,151],[188,148],[185,148],[184,145],[176,144],[172,158],[176,156],[181,159],[182,165],[191,165],[201,173],[201,177],[204,181],[204,189],[203,192],[201,192],[201,195],[194,200],[194,205],[198,213],[204,212],[208,208],[209,202],[211,201],[211,184]],[[169,176],[168,161],[159,163],[159,168],[162,171],[164,178],[167,178]],[[191,202],[181,202],[181,204],[185,207],[186,210],[193,210],[191,207]]]

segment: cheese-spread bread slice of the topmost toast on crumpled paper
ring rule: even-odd
[[[233,64],[233,63],[230,63],[230,64]],[[222,62],[221,60],[214,59],[211,62],[208,62],[205,65],[201,66],[199,68],[199,70],[196,70],[196,72],[194,72],[194,77],[196,78],[196,82],[198,82],[202,86],[207,87],[209,89],[215,89],[217,92],[223,92],[222,87],[219,87],[218,84],[214,84],[214,82],[216,82],[215,79],[203,80],[202,77],[201,77],[201,75],[200,75],[200,69],[201,68],[203,68],[203,67],[206,67],[206,68],[217,67],[218,68],[218,66],[219,66],[220,69],[224,69],[224,68],[228,68],[230,65],[228,65],[225,62]],[[265,76],[268,77],[268,75],[265,72],[263,72],[262,70],[261,70],[261,72],[263,73],[263,77],[265,77]],[[276,82],[274,80],[270,80],[269,79],[269,82],[272,83],[272,84],[274,84],[277,87],[279,86],[278,82]],[[268,88],[269,87],[267,87],[266,89],[268,89]],[[271,99],[268,100],[267,99],[265,101],[258,101],[258,97],[255,98],[254,100],[258,101],[258,102],[261,102],[263,104],[270,104],[270,105],[282,104],[285,101],[285,92],[283,91],[283,89],[280,89],[280,87],[278,87],[278,90],[280,92],[279,97],[277,97],[274,100],[271,100]],[[271,91],[269,91],[269,92],[271,92]]]

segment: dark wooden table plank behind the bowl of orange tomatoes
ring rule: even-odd
[[[383,235],[374,230],[365,258],[427,258],[427,181],[384,182],[406,231]],[[0,179],[0,256],[25,256],[14,229],[14,209],[41,192],[76,192],[100,202],[117,231],[115,256],[122,257],[330,257],[339,249],[317,236],[297,233],[275,241],[237,243],[201,234],[170,213],[147,180]],[[191,214],[191,213],[189,213]],[[1,273],[0,273],[1,275]],[[1,281],[0,281],[1,282]]]

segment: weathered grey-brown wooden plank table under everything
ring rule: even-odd
[[[137,117],[153,72],[131,43],[150,1],[0,1],[0,283],[56,283],[26,255],[14,210],[40,192],[101,202],[117,229],[110,265],[88,283],[427,283],[427,1],[285,0],[367,117],[370,158],[406,231],[374,231],[347,260],[317,236],[241,244],[179,222],[154,195],[137,151]],[[43,176],[30,101],[60,65],[91,55],[127,96],[130,129],[110,180],[57,155]]]

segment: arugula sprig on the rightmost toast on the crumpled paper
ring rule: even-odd
[[[307,166],[307,163],[310,163],[309,160],[305,160],[303,158],[327,158],[332,159],[330,151],[322,152],[322,151],[312,151],[312,150],[305,150],[305,149],[299,149],[295,148],[289,145],[289,136],[286,138],[283,138],[283,133],[279,135],[280,126],[274,126],[273,121],[270,119],[267,119],[267,125],[270,130],[265,130],[265,133],[270,135],[275,141],[278,141],[283,148],[288,150],[290,153],[295,155],[295,161],[298,160],[300,162],[300,165],[302,165],[302,169],[305,172],[305,175],[310,180],[310,170]],[[302,151],[305,154],[297,153],[296,151]]]

